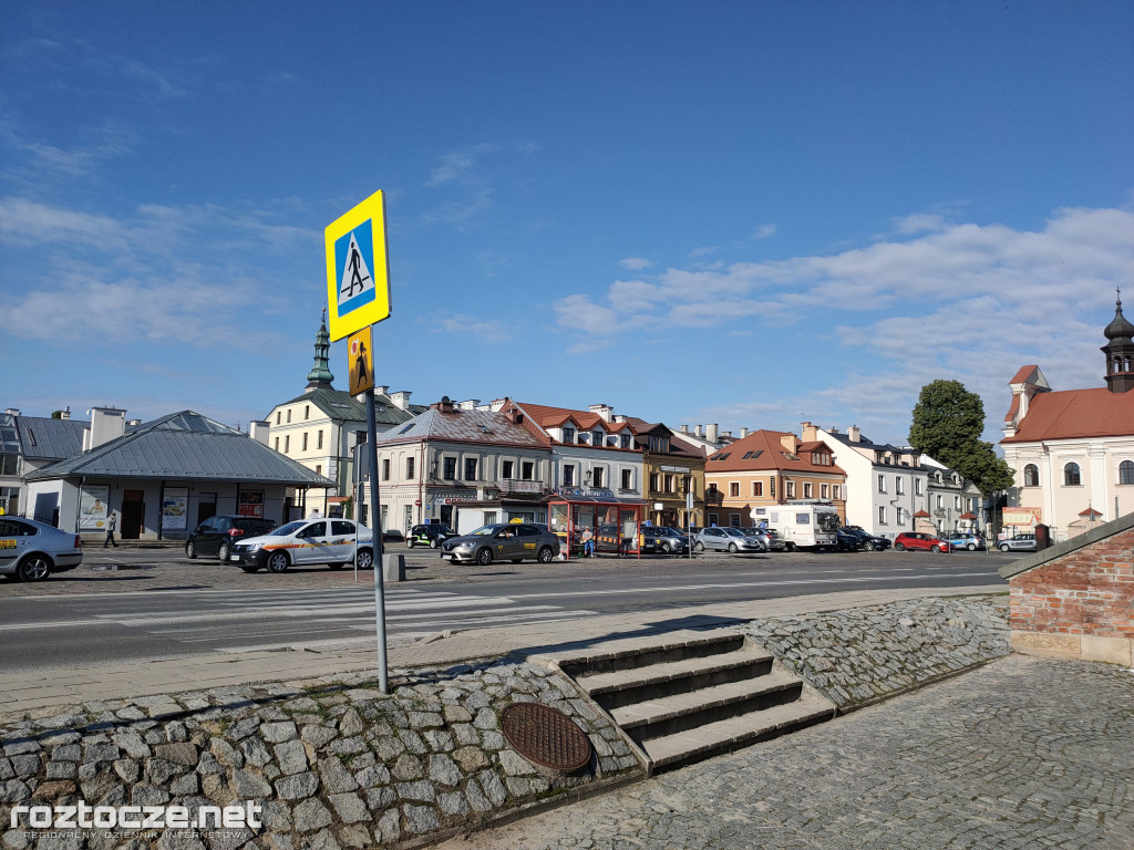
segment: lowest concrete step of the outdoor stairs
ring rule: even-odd
[[[654,771],[669,770],[770,740],[833,716],[833,705],[805,691],[795,703],[650,739],[645,741],[645,750]]]

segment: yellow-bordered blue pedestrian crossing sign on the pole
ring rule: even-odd
[[[328,226],[324,240],[327,315],[333,342],[390,315],[382,193],[375,192]]]

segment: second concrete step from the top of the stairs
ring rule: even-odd
[[[587,672],[575,679],[599,705],[613,711],[635,703],[767,675],[771,672],[772,661],[771,653],[754,645],[741,645],[728,653],[611,672]]]

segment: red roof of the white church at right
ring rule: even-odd
[[[1032,397],[1015,436],[1001,443],[1134,435],[1134,391],[1064,390]]]

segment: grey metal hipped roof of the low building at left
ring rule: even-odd
[[[335,482],[227,425],[183,410],[28,473],[44,478],[162,478],[331,487]]]

